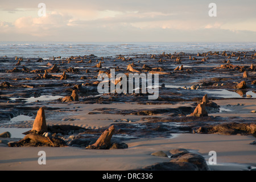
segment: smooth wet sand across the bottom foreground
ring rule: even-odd
[[[217,171],[249,170],[256,165],[256,148],[250,145],[251,136],[218,134],[177,134],[174,138],[135,139],[120,150],[85,150],[79,147],[6,147],[1,146],[1,170],[86,170],[126,171],[168,162],[166,157],[150,155],[155,151],[168,152],[172,148],[186,148],[209,159],[209,151],[216,151],[217,164],[209,165]],[[38,152],[46,152],[46,165],[38,164]]]

